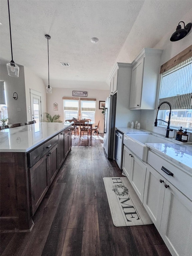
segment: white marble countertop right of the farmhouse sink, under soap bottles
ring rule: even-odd
[[[173,161],[176,166],[192,175],[192,146],[183,144],[146,143],[146,146],[158,155]]]

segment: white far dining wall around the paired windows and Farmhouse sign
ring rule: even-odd
[[[52,116],[55,114],[61,115],[60,120],[64,121],[64,108],[62,97],[74,97],[72,96],[72,91],[75,88],[52,88],[52,93],[47,94],[47,112]],[[87,98],[96,98],[96,110],[95,110],[95,124],[97,125],[100,120],[99,131],[103,133],[104,131],[104,115],[101,113],[102,110],[99,109],[99,101],[105,101],[109,96],[109,90],[92,90],[92,89],[78,89],[78,91],[86,91]],[[80,98],[80,97],[79,97]],[[53,110],[53,104],[58,103],[58,111]]]

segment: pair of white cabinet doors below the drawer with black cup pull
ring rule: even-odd
[[[143,205],[172,255],[192,255],[192,202],[150,165]]]

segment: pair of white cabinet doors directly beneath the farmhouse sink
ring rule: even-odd
[[[122,168],[143,203],[147,165],[124,146]]]

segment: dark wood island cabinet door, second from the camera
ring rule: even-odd
[[[48,164],[49,164],[49,185],[52,183],[55,175],[57,174],[58,168],[58,144],[56,144],[48,153]]]

